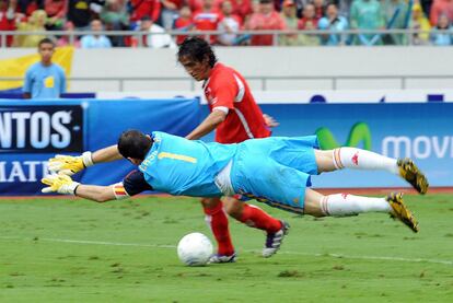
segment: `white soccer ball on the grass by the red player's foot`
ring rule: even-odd
[[[202,233],[189,233],[177,244],[177,256],[187,266],[202,266],[212,255],[212,243]]]

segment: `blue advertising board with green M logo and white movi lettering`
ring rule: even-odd
[[[431,186],[453,186],[453,104],[263,104],[280,126],[272,136],[317,133],[322,148],[352,145],[409,156]],[[385,172],[345,170],[313,178],[314,187],[406,187]]]

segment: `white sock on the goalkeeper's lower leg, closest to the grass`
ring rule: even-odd
[[[369,198],[349,194],[336,194],[321,199],[321,208],[326,215],[348,217],[362,212],[392,211],[391,205],[385,198]]]

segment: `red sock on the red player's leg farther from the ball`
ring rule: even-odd
[[[243,203],[240,221],[251,228],[264,230],[267,233],[276,233],[281,229],[281,222],[267,214],[263,209]]]

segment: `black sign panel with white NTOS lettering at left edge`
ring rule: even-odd
[[[0,153],[83,151],[81,106],[0,106]]]

